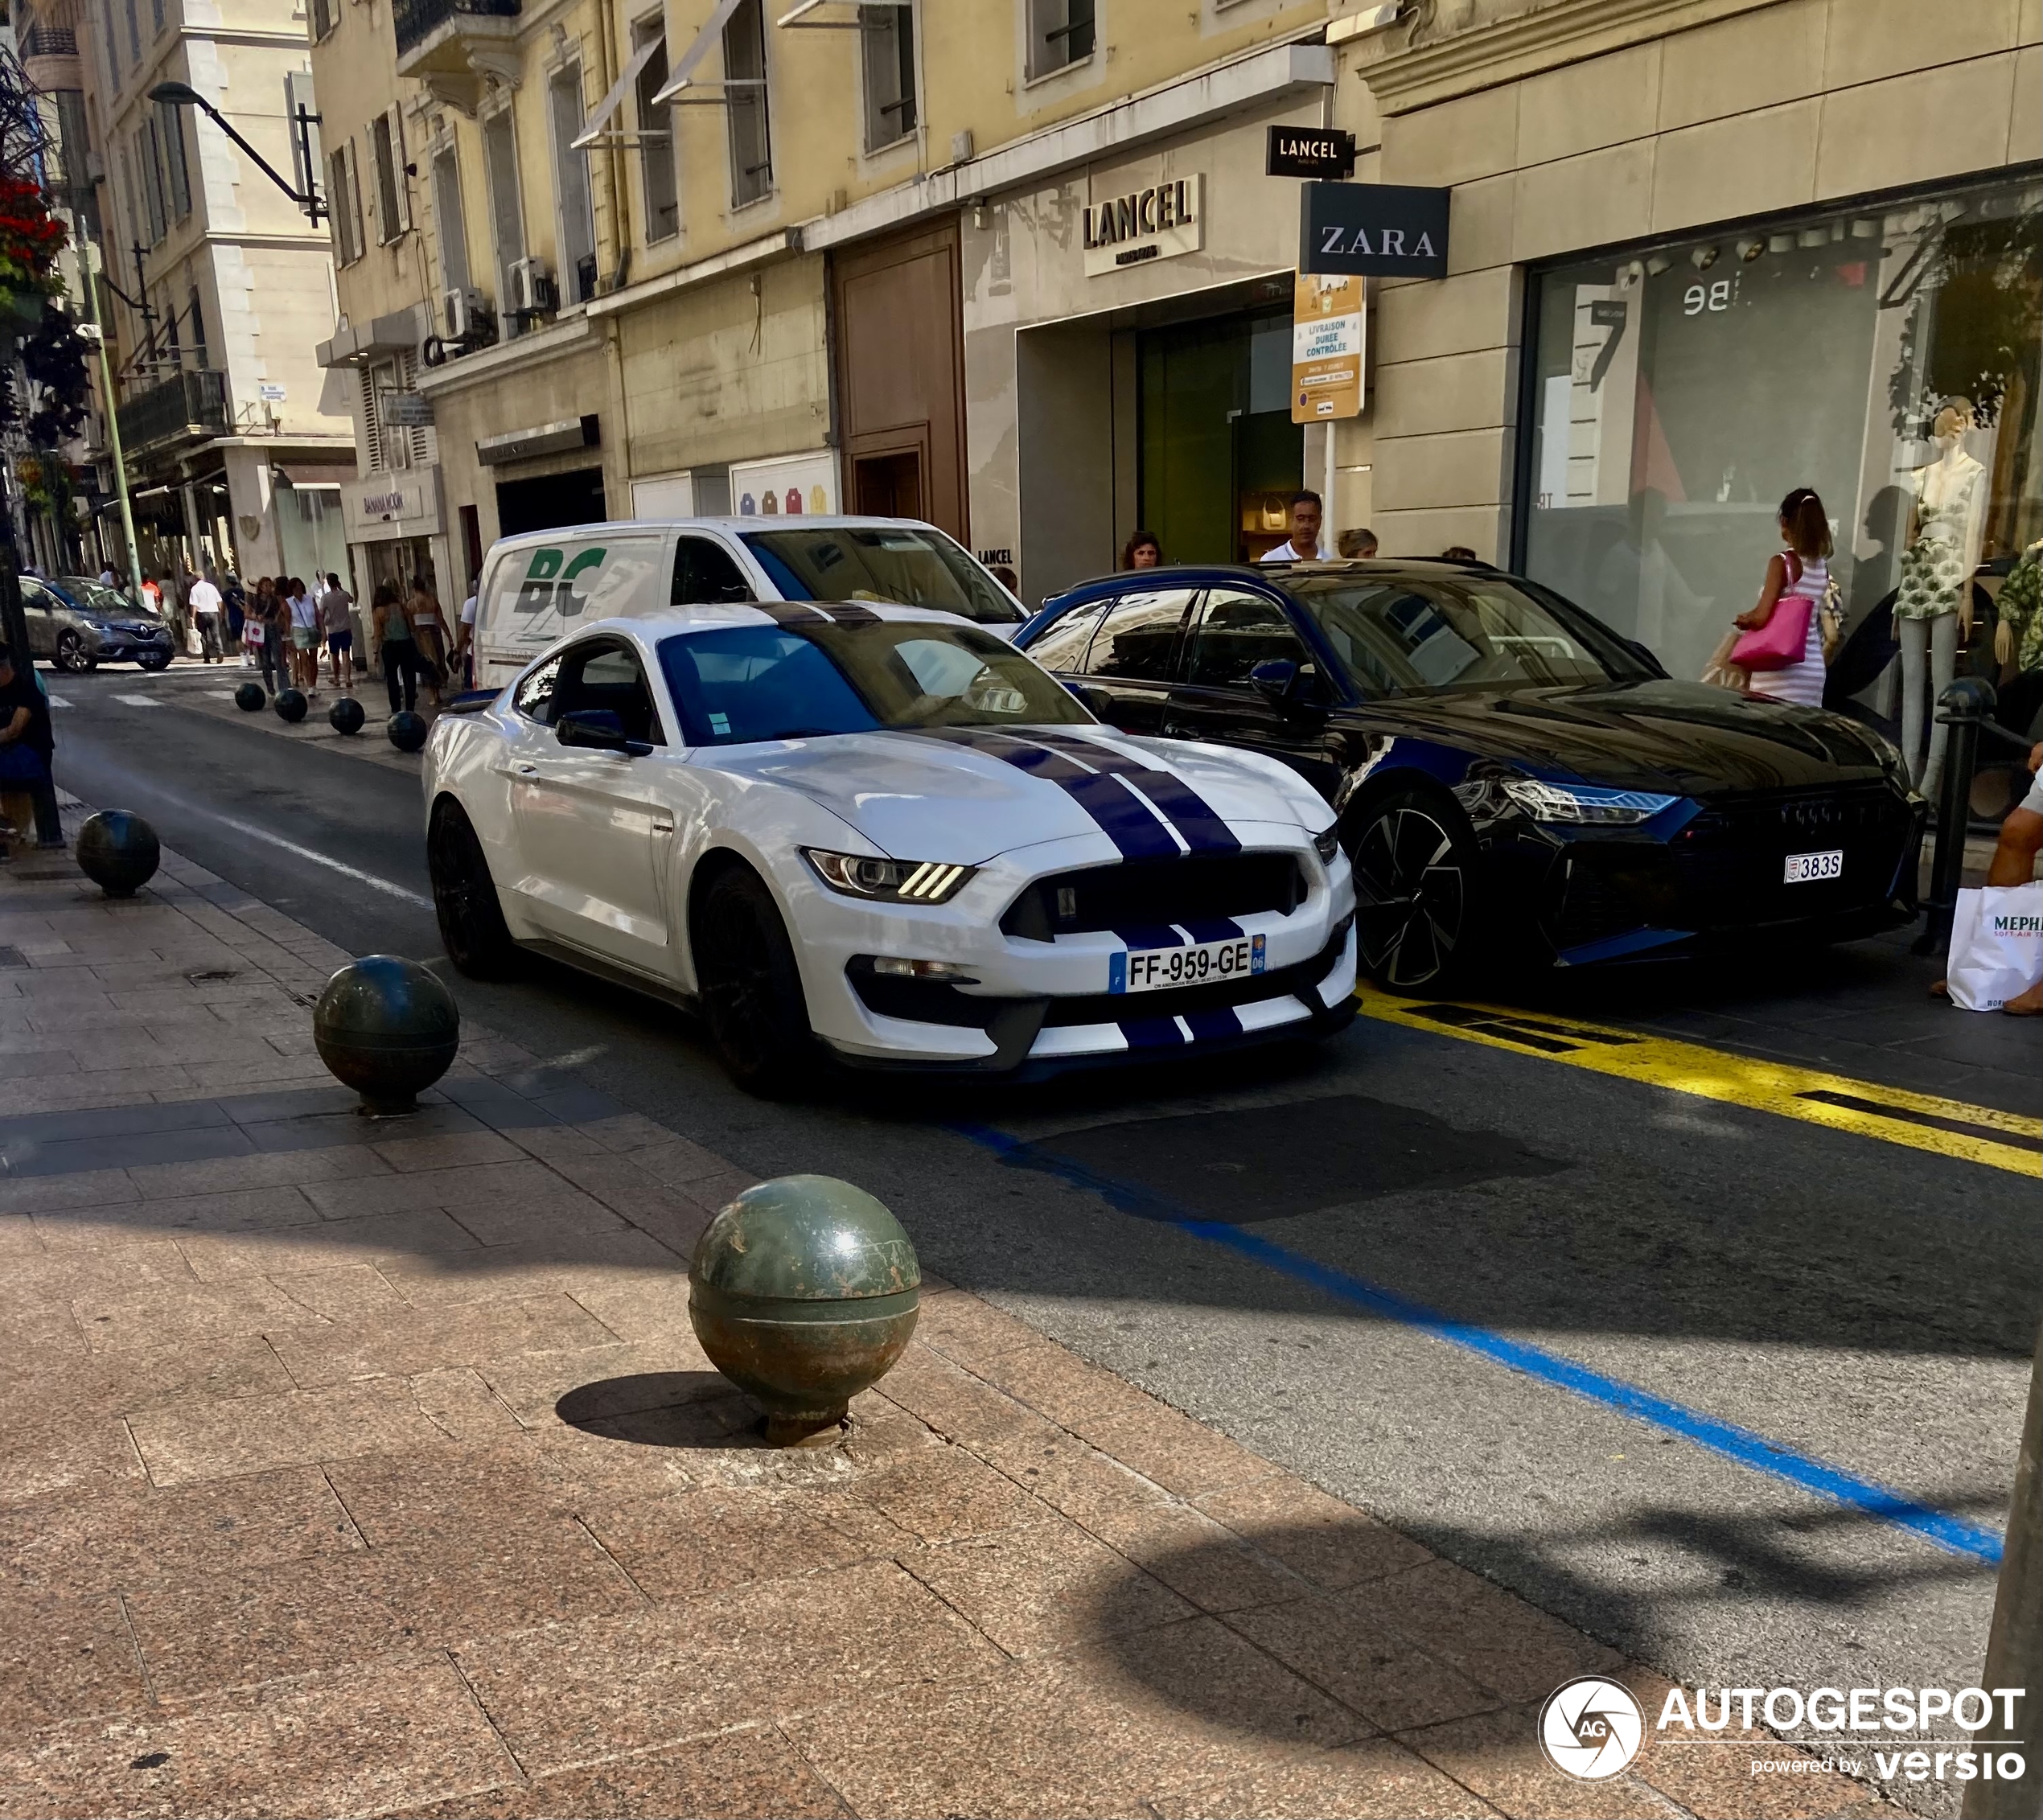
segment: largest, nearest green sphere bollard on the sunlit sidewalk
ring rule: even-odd
[[[915,1332],[915,1246],[864,1189],[782,1175],[731,1201],[695,1244],[688,1320],[711,1364],[793,1446],[844,1422]]]

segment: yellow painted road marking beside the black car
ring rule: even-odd
[[[1545,1056],[1571,1068],[1618,1074],[1649,1087],[1692,1093],[1698,1099],[1806,1119],[1833,1132],[1906,1144],[1910,1150],[1933,1150],[1939,1156],[1984,1162],[2012,1175],[2043,1175],[2043,1119],[2023,1113],[1853,1081],[1849,1074],[1826,1074],[1792,1062],[1708,1050],[1702,1044],[1585,1023],[1579,1017],[1549,1017],[1502,1005],[1399,999],[1369,985],[1361,987],[1355,999],[1365,1017],[1383,1023],[1455,1036],[1520,1056]]]

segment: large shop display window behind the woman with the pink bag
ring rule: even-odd
[[[1853,627],[1896,594],[1904,617],[1955,615],[1976,568],[1992,592],[2043,537],[2035,176],[1575,261],[1534,288],[1518,560],[1675,676],[1759,596],[1790,488],[1822,496]],[[1992,615],[1963,605],[1969,668],[2004,674]]]

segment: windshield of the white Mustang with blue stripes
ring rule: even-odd
[[[968,625],[723,625],[662,639],[660,666],[691,746],[1089,721],[1048,672]]]

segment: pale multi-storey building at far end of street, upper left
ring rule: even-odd
[[[282,0],[78,6],[143,566],[335,566],[353,437],[313,360],[333,333],[325,227],[217,121],[151,96],[188,84],[302,194],[311,159],[290,125],[315,110],[302,14]]]

